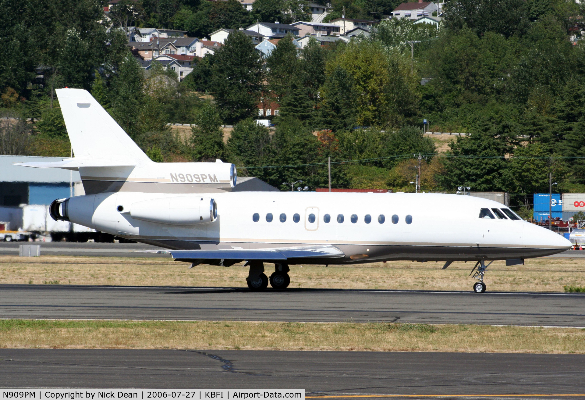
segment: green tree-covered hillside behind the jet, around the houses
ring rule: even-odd
[[[570,40],[585,30],[585,9],[573,0],[449,0],[439,28],[383,19],[370,37],[300,51],[288,36],[267,59],[238,28],[302,20],[307,2],[138,2],[138,26],[198,37],[236,29],[181,82],[160,66],[144,71],[101,2],[0,4],[11,15],[0,25],[2,113],[32,118],[3,129],[33,131],[23,153],[68,155],[53,94],[67,86],[90,90],[153,159],[222,158],[281,189],[297,179],[326,187],[331,157],[333,187],[412,192],[420,153],[425,191],[507,191],[521,210],[548,192],[552,172],[555,190],[585,192],[585,44]],[[398,4],[335,0],[329,19],[345,7],[348,18],[379,20]],[[273,130],[253,122],[266,99],[280,104]],[[470,135],[438,153],[423,118],[431,131]],[[198,126],[181,139],[169,122]],[[226,143],[222,124],[235,125]]]

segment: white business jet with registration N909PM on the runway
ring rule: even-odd
[[[53,201],[51,216],[164,247],[191,266],[246,261],[252,290],[286,288],[289,265],[409,260],[442,261],[443,269],[474,261],[473,290],[485,292],[494,260],[524,264],[571,245],[477,197],[232,192],[233,164],[153,162],[87,91],[57,95],[74,158],[19,164],[79,170],[86,194]],[[275,265],[270,278],[264,263]]]

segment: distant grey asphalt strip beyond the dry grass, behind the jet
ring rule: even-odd
[[[73,255],[91,257],[166,257],[170,254],[144,253],[160,247],[143,243],[77,243],[77,242],[0,242],[0,255],[18,255],[21,244],[39,244],[41,255]],[[585,250],[567,250],[552,258],[585,258]]]

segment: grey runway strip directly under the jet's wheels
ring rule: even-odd
[[[585,293],[0,285],[0,316],[585,326]]]

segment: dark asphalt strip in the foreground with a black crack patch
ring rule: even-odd
[[[2,387],[305,389],[307,395],[337,396],[585,394],[585,355],[2,349],[0,376]]]

